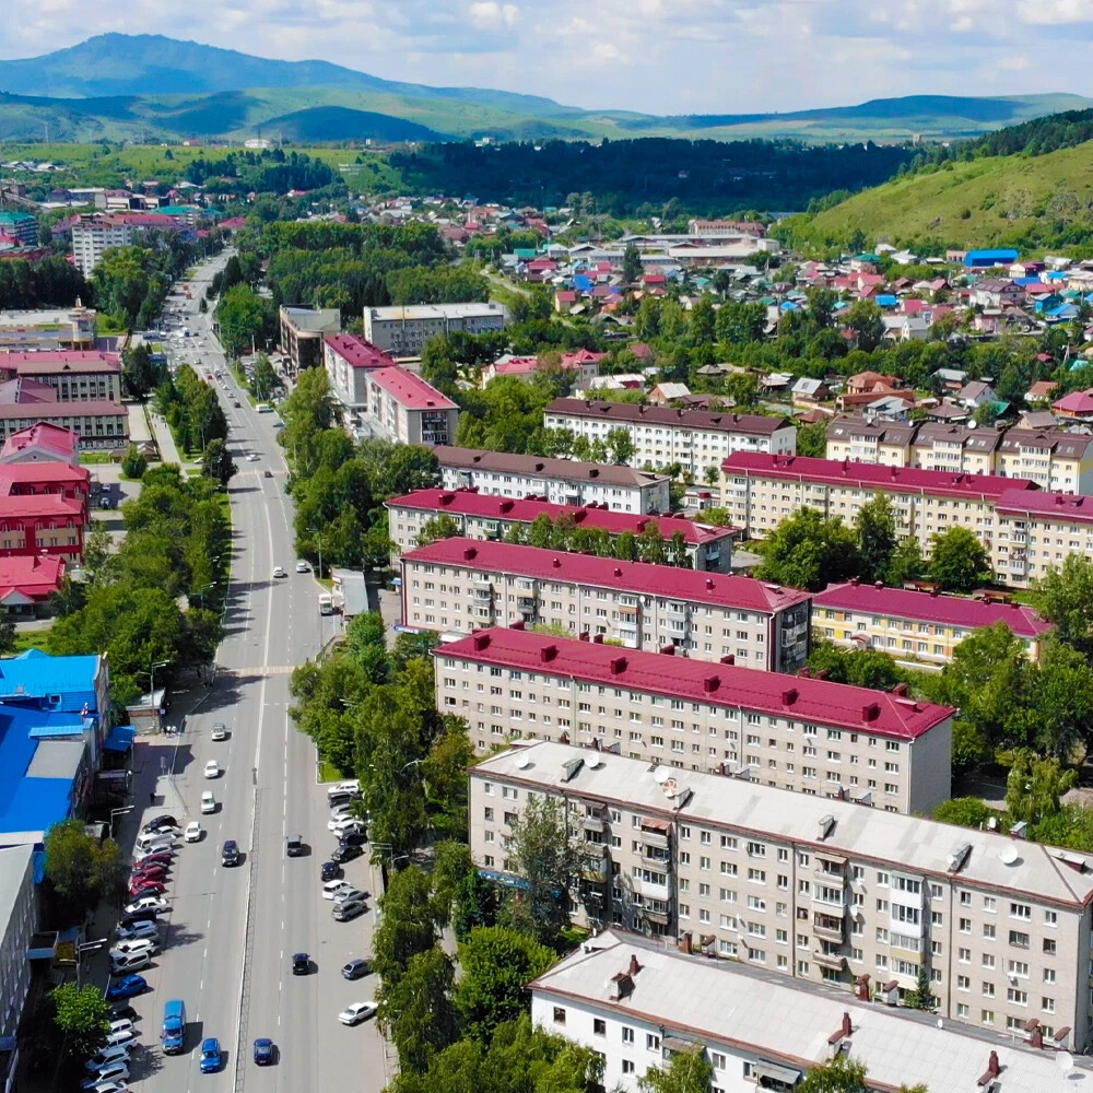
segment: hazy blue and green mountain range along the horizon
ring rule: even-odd
[[[383,80],[328,61],[283,61],[162,35],[101,34],[42,57],[0,61],[0,140],[240,139],[304,143],[687,137],[813,143],[971,137],[1093,99],[916,95],[786,114],[586,110],[481,87]]]

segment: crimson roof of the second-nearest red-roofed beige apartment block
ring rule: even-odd
[[[774,614],[785,607],[806,602],[810,596],[799,588],[754,580],[732,574],[704,573],[647,562],[619,562],[591,554],[573,554],[479,539],[438,539],[402,555],[412,562],[458,565],[516,574],[537,580],[568,581],[595,588],[612,588],[635,596],[659,596],[718,607]]]

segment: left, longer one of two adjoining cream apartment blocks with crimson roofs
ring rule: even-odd
[[[838,462],[804,456],[766,456],[738,451],[721,465],[722,504],[732,522],[762,538],[800,508],[850,524],[858,509],[879,493],[892,502],[900,536],[916,536],[929,554],[936,532],[961,526],[988,545],[995,502],[1004,493],[1035,492],[1034,482],[992,474],[954,474],[914,467]]]

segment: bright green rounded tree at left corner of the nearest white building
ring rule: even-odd
[[[515,1021],[530,1008],[527,985],[556,960],[553,949],[516,930],[471,930],[459,945],[462,975],[456,990],[467,1035],[489,1044],[498,1024]]]

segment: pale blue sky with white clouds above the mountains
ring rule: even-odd
[[[134,20],[139,12],[143,19]],[[9,0],[0,57],[162,32],[648,114],[1093,94],[1093,0]]]

